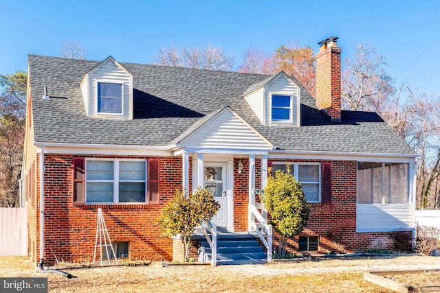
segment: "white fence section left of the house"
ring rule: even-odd
[[[28,255],[28,211],[25,207],[0,208],[0,256]]]

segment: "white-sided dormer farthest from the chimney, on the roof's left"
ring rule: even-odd
[[[87,117],[133,119],[133,75],[109,56],[80,82]]]

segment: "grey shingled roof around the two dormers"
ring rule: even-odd
[[[120,62],[134,77],[133,119],[122,120],[85,113],[79,84],[99,61],[30,55],[28,62],[39,143],[170,145],[206,115],[229,106],[281,150],[415,154],[375,113],[342,111],[342,122],[332,124],[303,86],[301,126],[263,126],[243,94],[270,75]],[[44,86],[50,99],[41,99]]]

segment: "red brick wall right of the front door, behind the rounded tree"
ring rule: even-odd
[[[288,250],[298,252],[298,238],[307,235],[320,237],[321,252],[337,252],[341,246],[347,253],[399,250],[395,233],[356,233],[357,162],[331,161],[331,172],[331,203],[311,203],[307,228],[289,240]]]

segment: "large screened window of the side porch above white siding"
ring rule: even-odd
[[[358,163],[358,203],[407,204],[408,164]]]

